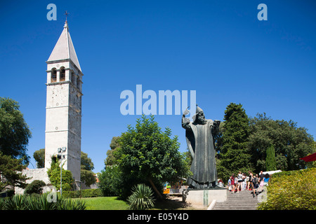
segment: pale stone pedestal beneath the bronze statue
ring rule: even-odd
[[[213,200],[216,200],[216,202],[225,202],[227,200],[227,189],[189,189],[183,192],[183,202],[187,202],[190,204],[209,207]]]

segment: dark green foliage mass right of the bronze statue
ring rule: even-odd
[[[299,158],[316,151],[315,141],[304,127],[292,120],[272,120],[265,113],[249,119],[241,104],[228,105],[215,139],[216,167],[223,181],[239,171],[258,174],[261,170],[312,167]]]

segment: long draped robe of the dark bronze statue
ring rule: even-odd
[[[205,125],[191,123],[183,118],[182,127],[185,128],[185,139],[193,161],[187,183],[191,188],[212,188],[217,185],[217,171],[213,133],[218,131],[218,125],[213,120],[207,120]]]

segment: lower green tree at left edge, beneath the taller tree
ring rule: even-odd
[[[25,188],[27,176],[22,174],[22,169],[26,165],[22,164],[22,159],[11,158],[10,155],[4,155],[0,152],[0,192],[6,186]]]

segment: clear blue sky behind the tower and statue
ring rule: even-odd
[[[48,21],[48,3],[57,20]],[[259,21],[259,3],[268,21]],[[112,137],[140,116],[122,116],[123,90],[196,90],[206,118],[230,102],[316,134],[315,1],[1,1],[0,97],[11,97],[32,130],[28,153],[45,146],[46,60],[65,22],[84,73],[81,151],[104,169]],[[157,116],[185,151],[181,116]],[[32,164],[35,161],[32,157]],[[32,168],[32,165],[29,165]]]

